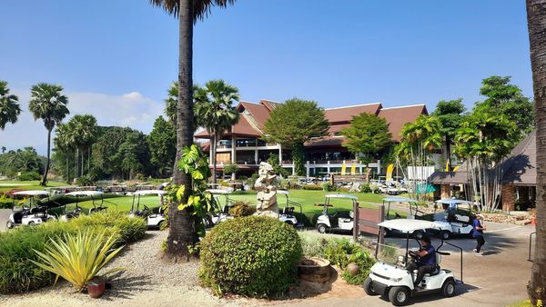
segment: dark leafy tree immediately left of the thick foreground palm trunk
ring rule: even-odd
[[[167,171],[172,170],[177,154],[177,132],[172,124],[157,117],[152,132],[147,136],[150,148],[150,162],[154,164],[157,173],[165,177]]]

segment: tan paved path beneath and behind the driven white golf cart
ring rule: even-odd
[[[432,294],[416,297],[410,303],[423,306],[505,306],[526,299],[526,285],[531,277],[531,262],[528,262],[529,234],[531,226],[516,226],[501,223],[487,223],[487,243],[483,247],[483,257],[477,257],[471,250],[475,247],[473,239],[453,239],[450,243],[460,245],[463,253],[463,281],[453,298],[443,298]],[[388,239],[402,245],[405,240]],[[438,241],[433,240],[437,246]],[[417,246],[415,243],[413,246]],[[449,268],[460,278],[460,253],[455,248],[444,247],[452,252],[444,256],[442,267]],[[283,303],[291,306],[391,306],[377,296],[359,299],[307,299],[305,301]]]

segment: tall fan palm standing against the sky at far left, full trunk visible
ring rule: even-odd
[[[35,121],[41,119],[44,121],[47,129],[47,163],[45,163],[44,178],[41,185],[47,182],[47,173],[49,172],[49,160],[51,153],[51,132],[56,124],[60,124],[69,114],[66,104],[68,97],[62,94],[63,87],[56,84],[35,84],[30,89],[31,100],[28,103],[28,110],[34,115]]]

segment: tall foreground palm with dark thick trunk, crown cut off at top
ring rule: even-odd
[[[180,200],[185,203],[191,193],[191,178],[181,172],[177,165],[182,149],[193,144],[193,25],[208,15],[212,5],[225,7],[234,4],[235,0],[150,0],[150,3],[178,18],[177,158],[173,183],[185,186],[185,193]],[[195,223],[192,223],[189,209],[177,210],[177,203],[171,203],[168,218],[167,255],[188,257],[187,247],[197,242],[197,229]]]

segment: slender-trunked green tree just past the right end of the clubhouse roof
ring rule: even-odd
[[[438,117],[440,120],[440,132],[444,136],[446,144],[446,160],[451,165],[451,144],[453,143],[453,136],[460,127],[460,123],[464,118],[466,108],[462,104],[462,98],[454,99],[450,101],[440,100],[436,104],[436,110],[432,112],[432,116]]]

